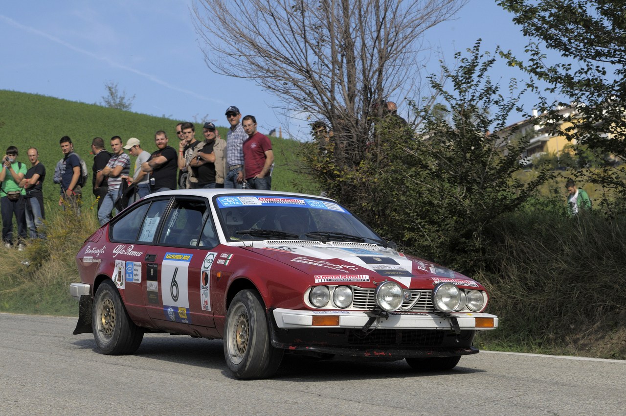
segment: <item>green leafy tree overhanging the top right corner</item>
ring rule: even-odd
[[[540,108],[558,133],[581,143],[580,152],[604,155],[603,169],[586,180],[614,189],[626,199],[626,182],[615,158],[626,157],[626,14],[624,3],[609,0],[499,0],[532,41],[527,55],[503,53],[510,65],[543,81]],[[557,61],[554,55],[559,55]],[[561,96],[568,103],[555,103]],[[571,105],[562,115],[555,105]],[[586,154],[580,154],[587,158]]]

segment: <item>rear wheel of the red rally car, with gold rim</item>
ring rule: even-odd
[[[100,353],[133,354],[143,340],[143,330],[131,321],[115,285],[103,281],[93,299],[93,338]]]

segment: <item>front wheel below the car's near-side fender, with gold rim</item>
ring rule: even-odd
[[[226,314],[224,357],[237,378],[269,378],[283,350],[270,343],[265,307],[256,291],[245,289],[233,298]]]

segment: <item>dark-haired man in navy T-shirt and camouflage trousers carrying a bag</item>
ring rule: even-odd
[[[78,155],[74,153],[74,145],[71,138],[68,136],[61,137],[59,145],[61,145],[63,159],[59,160],[57,164],[53,180],[55,184],[61,184],[61,199],[59,199],[59,205],[63,205],[63,209],[65,209],[65,205],[69,205],[77,215],[80,215],[82,194],[81,186],[78,185],[82,175],[80,159]],[[57,170],[59,172],[58,176]]]

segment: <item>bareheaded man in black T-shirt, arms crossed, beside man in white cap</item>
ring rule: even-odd
[[[167,134],[163,130],[155,133],[157,150],[152,152],[148,162],[141,165],[144,172],[150,172],[150,190],[176,189],[177,156],[176,150],[167,145]]]

